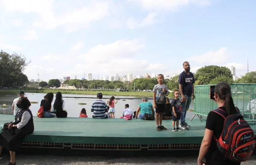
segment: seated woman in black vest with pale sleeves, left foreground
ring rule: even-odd
[[[9,165],[16,165],[15,152],[20,147],[23,138],[34,132],[33,115],[29,107],[29,100],[25,97],[17,102],[19,108],[15,121],[5,123],[3,132],[0,134],[0,159],[2,159],[3,147],[10,151],[11,160]]]

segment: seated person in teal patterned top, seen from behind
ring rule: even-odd
[[[155,115],[152,103],[148,102],[148,97],[143,96],[142,103],[139,104],[139,107],[136,111],[135,119],[138,118],[139,112],[140,112],[139,119],[144,119],[145,113]]]

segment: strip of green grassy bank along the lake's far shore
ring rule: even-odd
[[[115,91],[101,91],[101,90],[32,90],[32,89],[23,89],[25,93],[57,93],[61,92],[62,94],[77,94],[77,95],[96,95],[98,92],[101,92],[103,96],[147,96],[153,97],[153,92],[115,92]],[[0,95],[3,94],[17,94],[19,90],[0,90]],[[172,96],[170,94],[170,96]],[[172,98],[172,97],[169,97]]]

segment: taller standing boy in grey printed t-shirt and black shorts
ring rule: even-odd
[[[153,89],[153,100],[154,108],[156,109],[156,123],[157,130],[167,130],[166,127],[162,125],[164,107],[166,104],[166,96],[169,95],[169,90],[166,85],[163,84],[163,75],[157,75],[157,82]]]

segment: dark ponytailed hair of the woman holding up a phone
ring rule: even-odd
[[[232,98],[231,87],[225,82],[220,82],[215,87],[215,93],[220,100],[224,100],[225,110],[228,115],[235,114],[237,112]]]

